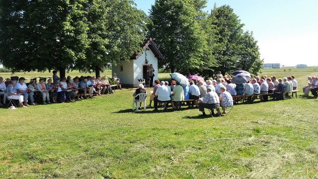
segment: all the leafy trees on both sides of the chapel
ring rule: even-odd
[[[99,73],[153,37],[171,72],[257,74],[257,41],[233,9],[207,0],[156,0],[148,17],[132,0],[0,0],[0,63],[12,72]]]

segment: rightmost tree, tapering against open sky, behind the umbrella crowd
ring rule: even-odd
[[[216,5],[209,16],[215,39],[209,45],[217,64],[211,67],[213,71],[221,71],[223,74],[236,70],[245,70],[257,75],[263,65],[260,60],[259,48],[253,33],[244,32],[239,16],[234,13],[229,5]]]

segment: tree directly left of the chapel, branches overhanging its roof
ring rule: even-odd
[[[81,71],[99,71],[120,60],[129,60],[141,50],[149,18],[131,0],[89,0],[86,4],[89,47]]]

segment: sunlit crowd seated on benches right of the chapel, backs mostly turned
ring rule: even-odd
[[[157,79],[147,107],[152,107],[152,101],[154,101],[154,110],[157,111],[159,103],[169,102],[172,110],[179,110],[182,105],[187,103],[188,108],[198,107],[202,112],[204,112],[203,108],[205,107],[219,106],[222,107],[223,111],[217,112],[224,114],[226,108],[233,106],[239,97],[242,102],[245,100],[252,102],[258,96],[260,101],[265,102],[268,101],[268,95],[271,95],[274,100],[278,100],[282,99],[286,93],[296,90],[298,85],[294,76],[283,78],[283,80],[277,80],[276,77],[267,78],[266,75],[255,76],[247,83],[237,85],[232,83],[231,76],[221,75],[219,74],[220,78],[216,80],[209,79],[205,82],[189,80],[189,85],[180,84],[172,79],[169,86],[168,82],[160,82]],[[315,88],[313,94],[318,96],[318,83],[316,86],[310,86],[310,89],[313,88]]]

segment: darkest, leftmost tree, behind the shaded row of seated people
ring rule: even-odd
[[[82,0],[0,0],[0,63],[12,72],[74,69],[88,44]]]

